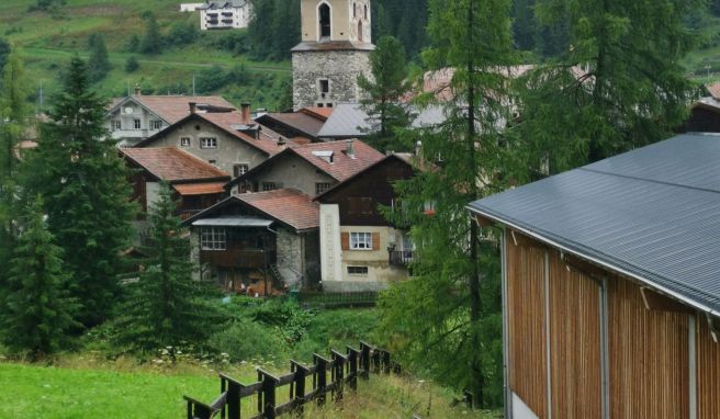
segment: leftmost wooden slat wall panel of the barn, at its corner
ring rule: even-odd
[[[506,240],[510,389],[547,417],[544,250]]]

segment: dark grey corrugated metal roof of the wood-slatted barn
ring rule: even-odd
[[[720,136],[680,135],[469,207],[720,312]]]

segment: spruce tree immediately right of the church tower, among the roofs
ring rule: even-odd
[[[367,94],[360,103],[371,125],[369,143],[380,149],[401,151],[396,131],[409,125],[410,115],[402,103],[403,95],[410,89],[407,81],[405,48],[392,36],[383,36],[370,53],[370,75],[358,76],[358,86]]]

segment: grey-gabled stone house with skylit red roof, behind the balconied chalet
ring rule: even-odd
[[[383,157],[363,141],[352,139],[288,147],[225,188],[233,193],[293,188],[316,196]]]

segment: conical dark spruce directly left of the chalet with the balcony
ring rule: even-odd
[[[167,184],[149,214],[147,258],[137,282],[130,282],[117,320],[119,343],[137,350],[204,344],[218,324],[218,312],[206,299],[205,283],[193,279],[190,238],[176,215],[177,202]]]

